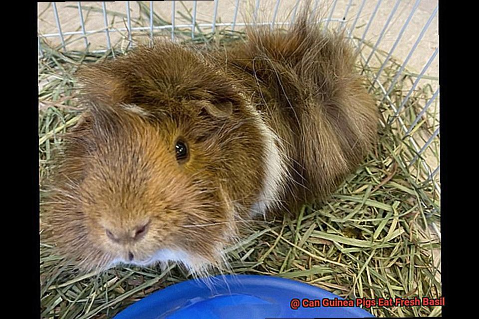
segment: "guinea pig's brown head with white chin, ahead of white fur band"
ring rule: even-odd
[[[98,95],[88,87],[81,123],[55,158],[41,215],[45,236],[85,270],[177,261],[202,273],[224,265],[223,250],[261,190],[261,134],[225,82],[216,80],[230,90],[219,98],[218,87],[202,88],[205,81],[182,81],[180,72],[173,78],[171,68],[181,69],[174,60],[152,74],[140,57],[111,62],[109,74],[90,68],[82,75],[102,85]],[[114,76],[131,61],[135,69]],[[219,77],[211,73],[210,82]],[[162,81],[180,81],[190,94],[165,98],[175,86]],[[120,97],[112,93],[118,85]]]

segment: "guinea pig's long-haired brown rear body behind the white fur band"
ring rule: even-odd
[[[228,71],[281,141],[294,180],[282,201],[291,208],[333,191],[377,136],[378,110],[353,50],[342,34],[307,20],[286,32],[250,28],[246,41],[224,51]]]

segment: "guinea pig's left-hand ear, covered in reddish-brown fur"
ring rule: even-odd
[[[128,86],[105,65],[80,67],[75,73],[82,92],[90,100],[109,105],[128,103]]]

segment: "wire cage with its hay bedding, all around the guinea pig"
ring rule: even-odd
[[[40,177],[48,174],[61,133],[78,120],[73,77],[78,65],[115,58],[137,42],[159,38],[228,45],[242,38],[246,23],[292,23],[302,2],[40,2]],[[306,205],[295,220],[265,223],[229,248],[231,270],[293,278],[347,298],[440,297],[438,3],[314,0],[311,9],[324,10],[322,27],[345,29],[359,52],[357,67],[381,110],[380,143],[328,204]],[[253,12],[253,21],[246,22],[244,12]],[[170,265],[79,277],[43,243],[40,270],[42,318],[109,318],[190,276]],[[371,312],[439,316],[441,308]]]

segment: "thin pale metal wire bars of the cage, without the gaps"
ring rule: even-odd
[[[130,15],[130,11],[131,11],[130,10],[130,1],[126,1],[125,2],[126,27],[124,27],[124,28],[111,28],[109,26],[109,21],[108,21],[107,4],[106,4],[105,1],[103,1],[103,2],[101,2],[101,6],[102,6],[104,28],[97,29],[97,30],[86,30],[85,23],[84,23],[85,21],[84,21],[84,18],[83,18],[82,4],[81,4],[80,1],[78,1],[77,2],[78,17],[79,17],[79,21],[80,21],[80,25],[81,25],[81,30],[79,30],[79,31],[68,31],[68,32],[62,32],[57,5],[56,5],[55,2],[52,2],[52,10],[53,10],[53,15],[54,15],[54,19],[55,19],[55,23],[56,23],[56,27],[57,27],[58,32],[41,34],[41,35],[38,36],[38,55],[39,55],[39,57],[43,56],[43,49],[42,49],[42,45],[40,43],[40,37],[43,37],[43,38],[58,37],[60,42],[61,42],[61,47],[63,49],[65,49],[65,46],[66,46],[65,36],[80,35],[81,38],[84,40],[85,49],[88,49],[88,40],[87,40],[88,36],[90,36],[92,34],[98,34],[99,32],[103,32],[105,34],[106,47],[107,47],[108,50],[111,50],[111,48],[112,48],[112,43],[111,43],[111,38],[110,38],[110,33],[111,32],[126,32],[127,35],[128,35],[128,40],[131,43],[132,40],[133,40],[132,33],[135,32],[135,31],[149,32],[150,39],[153,41],[153,36],[154,36],[154,31],[155,30],[171,29],[171,39],[175,40],[175,37],[177,36],[176,33],[175,33],[175,30],[180,29],[180,28],[181,29],[190,28],[191,29],[191,38],[194,39],[195,36],[196,36],[195,27],[203,27],[203,28],[211,27],[212,32],[214,32],[215,28],[218,27],[218,26],[230,26],[231,30],[234,31],[236,27],[245,26],[247,24],[247,23],[237,22],[238,12],[239,12],[239,9],[240,9],[240,0],[235,0],[234,14],[233,14],[233,20],[232,21],[227,22],[227,23],[217,23],[217,20],[218,20],[218,4],[219,4],[220,0],[214,0],[214,12],[213,12],[213,19],[212,19],[211,23],[197,23],[197,13],[198,13],[197,4],[198,4],[198,1],[193,1],[192,22],[189,23],[189,24],[176,24],[175,12],[177,10],[177,7],[176,7],[175,1],[172,1],[171,24],[169,24],[169,25],[154,25],[154,18],[153,18],[154,5],[155,5],[154,2],[155,1],[149,1],[150,19],[149,19],[149,25],[148,26],[138,26],[138,27],[132,27],[131,26],[132,23],[131,23],[131,15]],[[255,0],[254,13],[253,13],[254,20],[257,17],[259,2],[260,2],[259,0]],[[271,27],[273,27],[275,24],[289,24],[289,23],[294,22],[294,19],[295,19],[295,16],[296,16],[296,8],[300,4],[300,0],[296,1],[289,21],[276,21],[280,2],[281,2],[281,0],[276,0],[276,2],[274,3],[274,8],[273,8],[273,12],[272,12],[271,21],[262,22],[261,24],[266,24],[266,25],[269,24]],[[312,5],[313,12],[315,12],[317,10],[319,2],[320,2],[319,0],[315,0],[313,2],[313,5]],[[348,13],[349,13],[349,10],[350,10],[350,8],[353,4],[352,2],[353,2],[352,0],[348,1],[344,12],[338,12],[336,10],[337,0],[334,0],[334,2],[332,2],[332,5],[330,6],[331,8],[330,8],[328,17],[325,21],[325,24],[324,24],[325,27],[326,28],[329,27],[329,23],[333,22],[333,21],[337,22],[337,24],[338,24],[337,30],[340,30],[341,28],[347,26],[347,23],[345,23],[345,21],[349,20]],[[386,31],[388,31],[388,27],[389,27],[393,17],[397,13],[397,10],[398,10],[398,7],[399,7],[399,4],[400,4],[401,0],[396,0],[393,8],[390,11],[390,14],[389,14],[386,22],[384,23],[384,26],[381,29],[381,32],[380,32],[379,36],[377,37],[377,39],[376,39],[376,41],[375,41],[375,43],[372,47],[372,49],[370,50],[369,54],[367,56],[365,56],[365,54],[363,53],[363,51],[364,51],[363,50],[364,49],[363,44],[365,42],[365,39],[366,39],[366,36],[367,36],[368,31],[370,29],[370,26],[371,26],[372,22],[374,21],[376,13],[378,12],[378,8],[380,7],[382,2],[383,2],[383,0],[378,0],[376,2],[374,10],[373,10],[373,12],[372,12],[372,14],[371,14],[371,16],[368,20],[368,23],[367,23],[367,25],[364,29],[363,34],[361,35],[361,38],[357,39],[356,41],[353,41],[357,50],[360,52],[360,57],[361,57],[362,62],[364,63],[365,66],[368,66],[370,64],[371,59],[373,58],[376,51],[378,50],[378,48],[381,44],[381,41],[382,41],[384,35],[386,34]],[[431,107],[431,105],[433,105],[435,102],[439,102],[439,100],[437,100],[438,97],[439,97],[439,88],[435,91],[435,93],[429,99],[429,101],[426,102],[423,109],[417,114],[416,119],[413,121],[412,125],[410,125],[409,127],[406,126],[406,124],[404,123],[404,120],[401,117],[401,111],[403,111],[407,102],[411,98],[411,95],[413,94],[414,90],[417,88],[419,82],[421,82],[421,80],[423,79],[426,71],[428,71],[428,69],[430,68],[432,62],[437,58],[437,55],[438,55],[438,52],[439,52],[438,48],[436,48],[432,52],[432,54],[431,54],[430,58],[428,59],[427,63],[424,65],[421,72],[417,75],[415,82],[413,83],[412,87],[409,89],[408,94],[405,96],[405,98],[401,101],[401,103],[399,105],[391,100],[390,94],[391,94],[392,90],[394,89],[394,85],[396,84],[396,82],[403,75],[403,71],[407,67],[408,62],[414,56],[414,52],[415,52],[418,44],[423,39],[423,36],[424,36],[426,30],[430,27],[433,18],[437,15],[437,13],[438,13],[438,6],[437,5],[436,5],[435,9],[433,10],[433,12],[431,13],[431,15],[429,16],[429,19],[427,20],[427,22],[424,24],[421,31],[419,32],[416,41],[412,45],[409,53],[407,54],[407,57],[404,59],[404,62],[402,63],[399,70],[397,71],[397,74],[395,75],[395,77],[391,81],[391,83],[389,85],[389,88],[383,87],[383,85],[379,81],[379,78],[380,78],[382,72],[384,71],[384,68],[386,67],[387,63],[389,62],[389,60],[393,56],[393,53],[394,53],[395,49],[397,48],[397,46],[398,46],[398,44],[399,44],[399,42],[400,42],[400,40],[401,40],[401,38],[404,34],[405,29],[410,24],[411,18],[416,13],[419,2],[420,2],[420,0],[415,1],[414,5],[413,5],[413,8],[411,9],[407,19],[404,21],[401,29],[397,33],[397,37],[396,37],[396,40],[394,41],[393,46],[389,49],[386,59],[384,60],[384,62],[380,66],[379,71],[374,75],[374,80],[373,80],[373,86],[377,86],[383,93],[382,98],[381,98],[381,102],[383,104],[388,105],[391,108],[391,110],[393,111],[393,115],[389,118],[389,122],[387,124],[392,124],[394,121],[397,121],[397,123],[399,124],[399,127],[401,128],[401,130],[404,133],[404,138],[409,140],[409,142],[411,143],[411,145],[413,146],[413,148],[416,152],[416,155],[414,156],[414,158],[409,163],[409,167],[411,167],[425,153],[425,151],[428,149],[428,147],[430,147],[430,145],[431,145],[431,143],[433,143],[433,141],[439,139],[439,137],[438,137],[439,136],[439,123],[437,124],[437,128],[434,131],[434,133],[422,145],[421,145],[420,142],[418,142],[418,139],[415,139],[413,137],[413,135],[411,134],[413,132],[413,130],[415,129],[416,125],[421,121],[425,112],[427,112],[427,110]],[[358,8],[358,11],[357,11],[356,15],[353,17],[353,19],[350,20],[350,21],[352,21],[352,24],[347,28],[347,32],[348,32],[348,35],[351,39],[353,39],[352,31],[354,30],[354,28],[357,25],[358,19],[359,19],[360,15],[361,15],[361,12],[362,12],[362,10],[365,6],[365,3],[366,3],[366,0],[361,0],[361,2],[359,3],[359,8]],[[334,18],[333,16],[339,16],[339,18]],[[371,87],[371,89],[372,89],[372,87]],[[386,123],[382,123],[382,125],[384,126],[384,125],[386,125]],[[427,181],[427,182],[431,181],[434,184],[434,187],[435,187],[436,191],[440,195],[440,193],[441,193],[440,184],[439,184],[438,180],[436,180],[436,178],[435,178],[436,175],[439,172],[439,169],[440,169],[439,163],[437,164],[437,167],[435,167],[434,169],[429,167],[429,165],[424,160],[421,161],[421,165],[422,165],[423,173],[425,173],[424,175],[426,176],[425,181]],[[435,228],[436,232],[440,236],[439,232],[437,231],[436,225],[433,224],[432,226],[433,226],[433,228]]]

